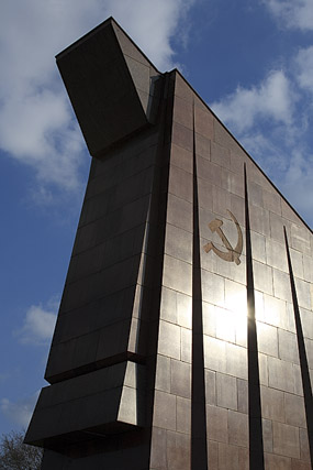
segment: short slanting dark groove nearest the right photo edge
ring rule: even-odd
[[[308,436],[309,436],[309,448],[310,448],[310,457],[311,464],[313,464],[313,398],[312,398],[312,386],[310,381],[310,372],[309,372],[309,363],[305,352],[305,342],[303,337],[301,316],[298,304],[298,296],[292,270],[292,263],[289,251],[289,243],[286,227],[283,227],[284,233],[284,243],[286,243],[286,252],[288,260],[288,269],[289,269],[289,278],[290,278],[290,287],[292,295],[292,304],[293,304],[293,313],[294,313],[294,323],[295,323],[295,331],[298,339],[298,350],[299,350],[299,359],[300,359],[300,369],[302,376],[302,385],[303,385],[303,396],[304,396],[304,408],[305,408],[305,417],[306,417],[306,427],[308,427]]]

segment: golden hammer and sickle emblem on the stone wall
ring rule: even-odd
[[[243,251],[243,232],[242,232],[241,226],[239,226],[236,217],[230,210],[227,210],[227,212],[232,217],[232,219],[235,222],[236,228],[237,228],[238,241],[237,241],[236,247],[233,248],[231,245],[231,243],[228,242],[225,233],[221,229],[221,227],[223,225],[223,221],[220,220],[220,219],[215,219],[215,220],[212,220],[209,223],[209,228],[210,228],[211,232],[216,232],[217,233],[217,236],[221,238],[222,242],[224,243],[225,248],[228,251],[225,252],[225,251],[219,250],[216,247],[214,247],[214,244],[212,243],[212,241],[210,241],[209,243],[206,243],[203,248],[206,251],[206,253],[209,253],[210,250],[213,250],[214,253],[217,254],[217,256],[222,258],[222,260],[234,261],[238,265],[238,264],[241,264],[239,256],[241,256],[242,251]]]

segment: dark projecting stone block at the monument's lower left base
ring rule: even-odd
[[[43,389],[25,440],[58,448],[78,430],[83,440],[85,430],[110,434],[144,423],[145,368],[122,362]]]

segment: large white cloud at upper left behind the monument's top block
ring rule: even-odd
[[[0,146],[34,168],[40,185],[76,190],[85,144],[54,56],[108,17],[160,69],[174,65],[171,37],[193,0],[12,0],[0,15]],[[182,34],[185,31],[182,31]],[[41,189],[42,190],[42,189]]]

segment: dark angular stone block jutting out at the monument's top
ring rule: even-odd
[[[112,19],[56,58],[92,156],[154,121],[160,74]]]

